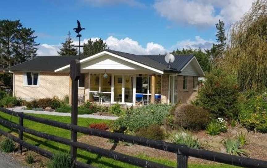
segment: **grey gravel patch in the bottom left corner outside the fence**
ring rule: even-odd
[[[6,153],[1,153],[0,152],[0,167],[1,168],[23,168],[23,166],[19,165],[15,161],[13,157]]]

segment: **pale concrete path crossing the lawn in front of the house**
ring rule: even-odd
[[[13,110],[15,112],[23,112],[23,113],[30,113],[30,114],[46,114],[46,115],[54,115],[54,116],[69,116],[71,117],[70,113],[58,113],[58,112],[49,112],[49,111],[37,111],[37,110],[23,110],[22,106],[8,108],[9,110]],[[119,117],[112,117],[112,116],[100,116],[100,115],[92,115],[92,114],[78,114],[80,118],[95,118],[95,119],[103,119],[103,120],[117,120]]]

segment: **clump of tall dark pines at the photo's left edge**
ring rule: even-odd
[[[7,68],[36,57],[37,36],[20,20],[0,20],[0,67]]]

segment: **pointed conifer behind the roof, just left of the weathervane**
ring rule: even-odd
[[[74,44],[72,43],[73,41],[70,37],[70,31],[69,31],[66,41],[62,43],[62,47],[59,49],[60,51],[57,51],[57,54],[58,55],[77,55],[78,54],[77,48],[75,48]]]

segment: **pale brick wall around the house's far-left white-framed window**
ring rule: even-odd
[[[23,86],[23,73],[15,72],[14,94],[22,99],[32,100],[40,98],[53,98],[57,95],[60,99],[69,95],[69,73],[40,73],[39,86]],[[88,85],[88,84],[87,84]],[[83,94],[84,89],[79,89]]]

